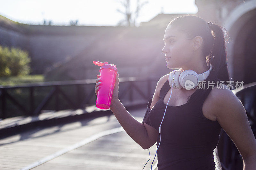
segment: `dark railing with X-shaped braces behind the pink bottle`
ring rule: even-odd
[[[158,78],[159,79],[159,78]],[[136,77],[127,77],[127,78],[119,78],[119,83],[127,84],[122,85],[124,87],[119,86],[119,100],[123,100],[125,95],[128,94],[128,100],[133,101],[136,98],[141,98],[147,100],[151,97],[152,83],[156,84],[158,81],[157,78],[136,78]],[[55,82],[42,82],[42,83],[34,83],[34,84],[26,84],[19,86],[4,86],[0,87],[0,102],[1,102],[1,115],[0,118],[5,119],[7,117],[6,113],[8,112],[6,108],[6,101],[9,100],[15,107],[18,107],[21,111],[23,111],[24,115],[38,115],[40,111],[44,109],[44,107],[50,102],[50,100],[55,97],[55,108],[53,110],[60,110],[60,97],[62,100],[65,100],[70,109],[78,109],[84,108],[86,104],[95,104],[96,94],[95,94],[95,80],[96,79],[87,79],[87,80],[70,80],[70,81],[55,81]],[[138,86],[137,84],[141,82],[143,86]],[[76,95],[74,97],[70,97],[68,92],[63,90],[64,86],[73,86],[75,87]],[[85,86],[82,88],[82,86]],[[48,92],[43,100],[40,101],[38,105],[35,105],[35,88],[42,89],[43,87],[50,87],[50,92]],[[29,103],[27,107],[25,107],[21,102],[19,102],[13,95],[8,91],[16,90],[16,89],[26,89],[28,90],[28,96],[25,96],[22,100],[27,100]],[[74,90],[74,89],[73,89]],[[84,93],[84,91],[87,93]],[[135,91],[132,92],[132,91]],[[91,99],[94,99],[93,102],[89,102]]]

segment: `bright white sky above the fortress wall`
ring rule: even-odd
[[[121,4],[124,0],[0,0],[0,15],[13,21],[26,24],[43,24],[52,21],[52,25],[68,25],[78,20],[78,25],[116,26],[124,15]],[[147,0],[140,0],[140,4]],[[135,11],[137,0],[131,0],[131,11]],[[137,18],[148,22],[157,14],[197,13],[195,0],[148,0]]]

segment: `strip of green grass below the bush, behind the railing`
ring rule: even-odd
[[[44,82],[44,75],[27,75],[27,76],[13,76],[13,77],[0,77],[0,86],[4,85],[18,85],[22,83],[35,83]]]

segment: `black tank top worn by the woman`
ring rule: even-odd
[[[163,100],[170,89],[167,79],[160,90],[160,99],[151,110],[152,99],[149,100],[142,121],[159,132],[164,116],[157,150],[158,170],[214,170],[213,150],[219,142],[221,126],[218,121],[204,117],[202,107],[206,97],[180,106],[168,105],[164,115]],[[159,141],[158,133],[156,148]]]

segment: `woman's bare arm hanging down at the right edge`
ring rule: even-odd
[[[216,88],[212,91],[212,113],[242,155],[244,170],[255,170],[256,140],[243,104],[230,89]]]

